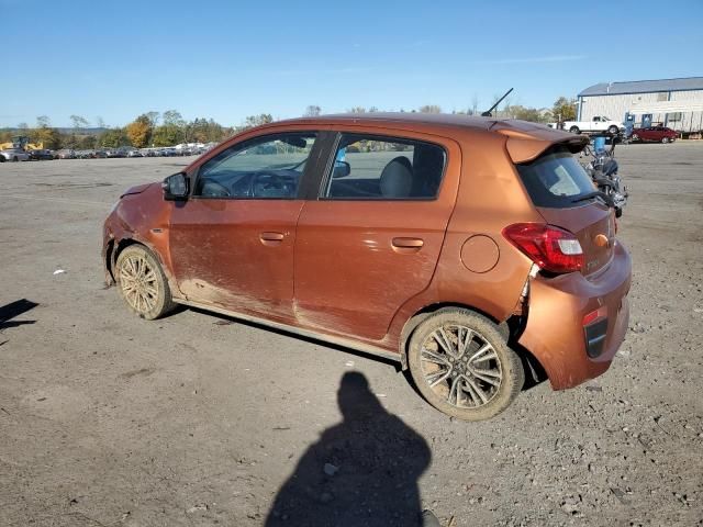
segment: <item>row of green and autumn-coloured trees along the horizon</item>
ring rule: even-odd
[[[496,98],[498,99],[498,98]],[[377,106],[354,106],[348,113],[375,113],[380,110]],[[400,109],[401,112],[406,110]],[[442,108],[436,104],[426,104],[409,112],[442,113]],[[480,115],[478,99],[473,97],[471,105],[454,110],[451,113],[461,115]],[[322,114],[322,108],[316,104],[309,105],[303,116],[316,116]],[[550,109],[536,109],[513,104],[507,99],[502,106],[493,112],[496,117],[520,119],[536,123],[553,121],[568,121],[576,119],[576,100],[560,97]],[[198,117],[186,121],[177,110],[165,112],[150,111],[138,115],[126,126],[107,127],[101,117],[96,117],[96,132],[90,132],[91,123],[81,115],[70,116],[72,127],[57,128],[52,126],[46,115],[36,117],[35,126],[26,123],[18,124],[15,130],[0,131],[0,143],[5,143],[13,135],[29,136],[34,144],[42,143],[44,148],[119,148],[133,146],[136,148],[174,146],[180,143],[220,143],[234,134],[243,132],[260,124],[270,123],[274,117],[270,113],[249,115],[238,126],[223,126],[213,119]]]

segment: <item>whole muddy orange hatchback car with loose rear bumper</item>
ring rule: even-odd
[[[409,113],[253,128],[121,197],[107,279],[143,318],[185,304],[391,358],[486,419],[526,377],[600,375],[627,329],[631,259],[572,156],[587,141]]]

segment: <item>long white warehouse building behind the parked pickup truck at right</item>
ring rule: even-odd
[[[579,121],[605,115],[635,126],[661,123],[677,132],[703,131],[703,77],[601,82],[578,96]]]

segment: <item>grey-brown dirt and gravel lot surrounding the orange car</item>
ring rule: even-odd
[[[0,317],[0,525],[256,526],[281,487],[317,505],[269,525],[400,525],[419,500],[444,526],[703,525],[703,143],[618,158],[635,274],[617,360],[481,424],[362,355],[131,315],[103,289],[102,220],[187,159],[0,165],[0,307],[27,310]]]

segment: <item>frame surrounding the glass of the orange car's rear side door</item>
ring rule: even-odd
[[[383,198],[383,197],[379,197],[379,198],[369,198],[369,197],[359,197],[359,198],[354,198],[354,197],[344,197],[344,198],[331,198],[325,195],[326,190],[327,190],[327,186],[330,184],[330,179],[332,178],[332,170],[333,170],[333,166],[334,166],[334,161],[336,159],[337,156],[337,148],[339,147],[339,143],[342,142],[342,137],[344,135],[364,135],[370,139],[378,139],[378,141],[386,141],[386,142],[391,142],[392,139],[403,139],[403,141],[411,141],[411,142],[417,142],[417,143],[425,143],[427,145],[433,145],[436,146],[438,148],[442,148],[442,152],[444,152],[444,166],[442,167],[442,176],[439,179],[439,186],[437,187],[437,191],[435,193],[435,195],[433,197],[408,197],[408,198]],[[445,176],[447,173],[447,167],[449,165],[449,153],[447,150],[447,148],[436,142],[433,141],[427,141],[427,139],[419,139],[415,137],[406,137],[403,136],[402,133],[400,134],[383,134],[383,133],[373,133],[373,132],[366,132],[366,131],[344,131],[344,130],[339,130],[335,132],[335,137],[334,137],[334,142],[331,145],[331,148],[328,150],[328,155],[327,158],[325,160],[325,167],[324,167],[324,172],[323,172],[323,177],[320,179],[320,184],[317,186],[317,195],[316,199],[319,201],[367,201],[367,202],[403,202],[403,201],[437,201],[439,199],[439,194],[442,192],[442,187],[444,184],[445,181]]]

